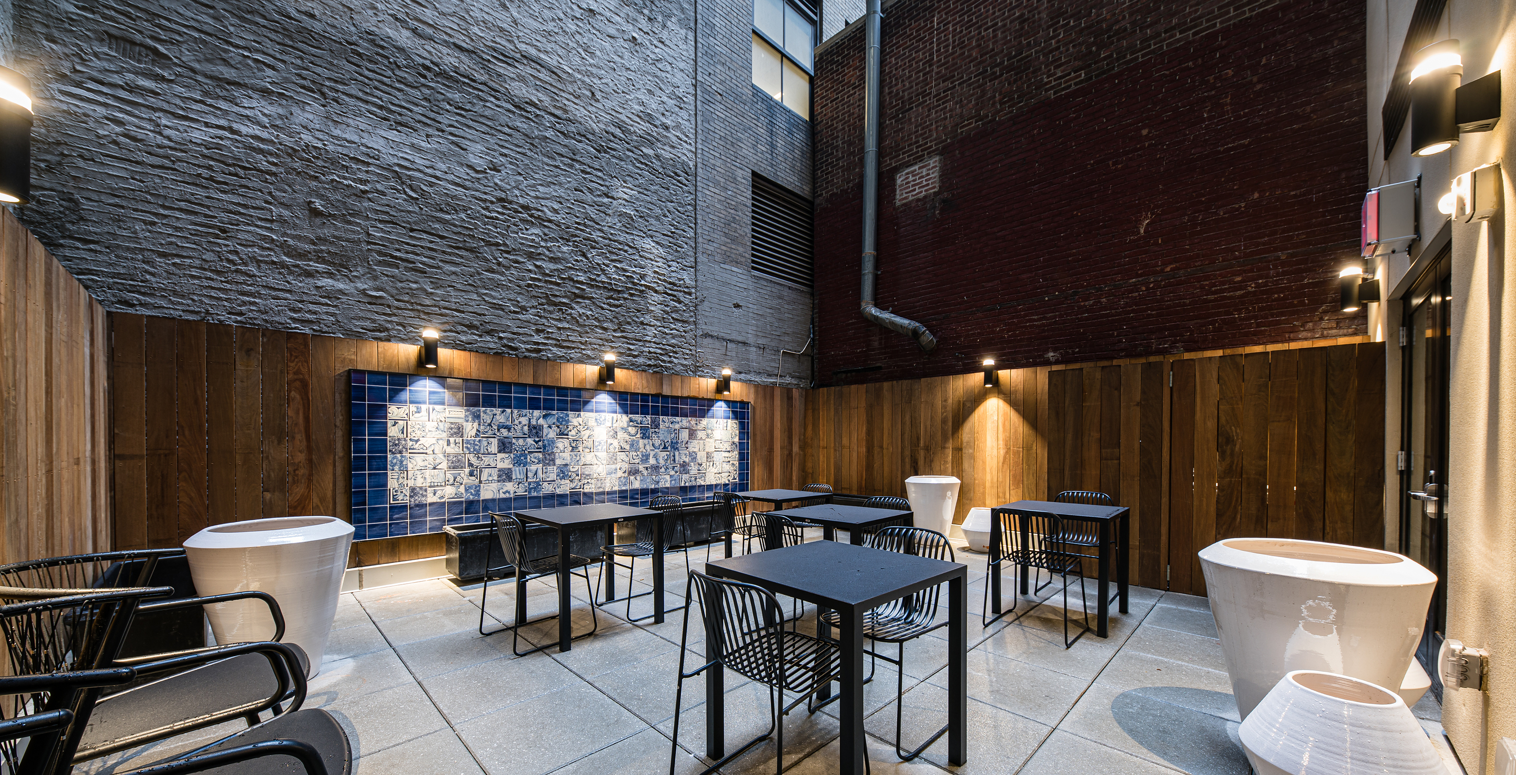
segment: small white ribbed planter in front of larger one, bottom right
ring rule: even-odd
[[[1445,775],[1405,702],[1345,675],[1287,673],[1237,736],[1260,775]]]

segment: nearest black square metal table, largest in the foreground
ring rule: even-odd
[[[969,569],[926,557],[885,552],[838,541],[813,541],[729,560],[706,563],[705,572],[770,591],[799,598],[840,614],[841,628],[841,719],[840,769],[843,775],[864,772],[863,731],[863,616],[870,608],[917,590],[948,584],[948,761],[967,761],[969,682]],[[716,658],[706,643],[706,658]],[[705,672],[705,755],[726,755],[726,719],[722,708],[723,672]]]

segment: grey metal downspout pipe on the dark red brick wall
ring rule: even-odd
[[[879,255],[875,250],[875,231],[879,220],[879,21],[882,17],[879,3],[881,0],[869,0],[864,15],[867,49],[864,50],[863,120],[863,288],[858,294],[858,308],[863,317],[911,337],[922,347],[922,352],[932,352],[932,347],[937,347],[937,337],[932,337],[926,326],[885,312],[873,303],[873,281],[879,273]]]

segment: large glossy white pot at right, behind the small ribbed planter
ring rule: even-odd
[[[1226,538],[1199,558],[1243,719],[1290,670],[1407,679],[1437,584],[1414,560],[1287,538]]]

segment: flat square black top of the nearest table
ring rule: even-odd
[[[969,572],[963,563],[838,541],[753,552],[706,563],[706,569],[713,576],[758,584],[843,611],[873,608]]]

